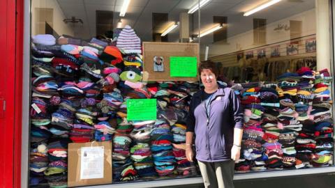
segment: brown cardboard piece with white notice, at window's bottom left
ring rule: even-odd
[[[112,183],[112,142],[68,144],[68,187]]]

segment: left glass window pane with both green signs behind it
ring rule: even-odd
[[[31,1],[31,187],[199,176],[184,144],[198,3]]]

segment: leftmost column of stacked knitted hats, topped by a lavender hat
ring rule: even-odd
[[[66,185],[67,137],[72,123],[68,116],[73,111],[52,113],[60,103],[55,77],[61,74],[52,50],[60,50],[60,46],[54,46],[56,39],[51,35],[34,36],[32,42],[31,185],[45,180],[50,186]],[[59,142],[62,144],[56,144]]]

